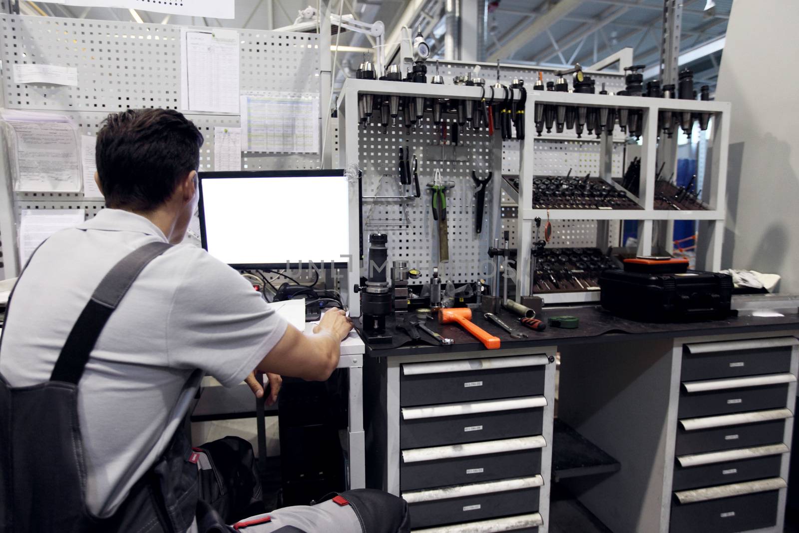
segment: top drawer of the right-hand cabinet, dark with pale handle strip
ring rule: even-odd
[[[686,344],[682,380],[789,372],[793,337]]]

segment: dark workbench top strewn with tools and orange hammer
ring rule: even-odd
[[[498,313],[507,324],[519,332],[527,334],[527,339],[511,339],[511,336],[498,326],[487,322],[482,312],[472,311],[472,321],[492,335],[498,336],[503,348],[534,348],[539,346],[562,346],[566,344],[590,344],[595,342],[614,342],[640,339],[662,339],[674,336],[725,335],[731,333],[772,332],[786,329],[799,329],[799,315],[785,316],[732,316],[726,320],[707,320],[670,324],[636,322],[613,316],[599,306],[579,308],[544,309],[537,317],[544,322],[547,316],[577,316],[580,326],[577,329],[551,328],[535,332],[519,324],[517,317],[503,310]],[[411,314],[411,316],[414,316]],[[441,335],[455,340],[455,344],[439,346],[427,333],[419,331],[422,338],[412,341],[403,332],[396,330],[396,321],[386,320],[387,332],[393,336],[392,344],[370,344],[364,337],[367,354],[374,357],[430,355],[449,352],[474,352],[484,350],[483,344],[457,324],[439,324],[427,320],[427,327]],[[356,322],[356,326],[357,326]],[[363,335],[362,335],[363,337]]]

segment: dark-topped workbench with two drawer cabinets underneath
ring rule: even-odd
[[[389,319],[393,344],[366,345],[367,486],[403,495],[414,531],[548,531],[553,475],[618,533],[782,531],[799,316],[545,309],[579,328],[515,322],[528,338],[511,339],[473,314],[500,349],[433,320],[455,344],[410,344]]]

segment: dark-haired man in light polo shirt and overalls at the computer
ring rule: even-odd
[[[0,532],[227,531],[197,503],[180,430],[201,376],[230,387],[256,369],[327,380],[336,368],[344,312],[304,334],[232,268],[179,245],[202,143],[174,110],[110,115],[95,176],[106,209],[50,237],[18,280],[0,344]],[[408,530],[403,500],[344,495],[247,531]]]

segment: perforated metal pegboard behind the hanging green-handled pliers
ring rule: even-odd
[[[449,121],[449,119],[447,119]],[[457,126],[455,126],[457,127]],[[491,204],[494,201],[491,187],[487,189],[483,214],[483,233],[475,232],[475,185],[471,171],[485,177],[491,169],[491,138],[487,130],[466,129],[460,145],[453,149],[431,144],[439,139],[439,129],[430,117],[425,117],[415,129],[407,133],[403,126],[388,130],[374,125],[359,129],[359,162],[362,170],[364,197],[396,196],[404,193],[399,183],[398,152],[405,146],[419,159],[419,185],[422,196],[407,201],[368,200],[364,198],[363,230],[364,254],[368,249],[368,234],[388,234],[390,261],[408,261],[419,267],[423,280],[429,279],[435,257],[438,257],[438,223],[433,220],[431,195],[426,185],[433,180],[435,169],[440,169],[444,181],[455,182],[447,190],[447,225],[449,229],[449,263],[443,272],[444,279],[455,283],[474,281],[479,273],[487,274],[487,249],[491,239]],[[497,179],[498,177],[494,177]]]

